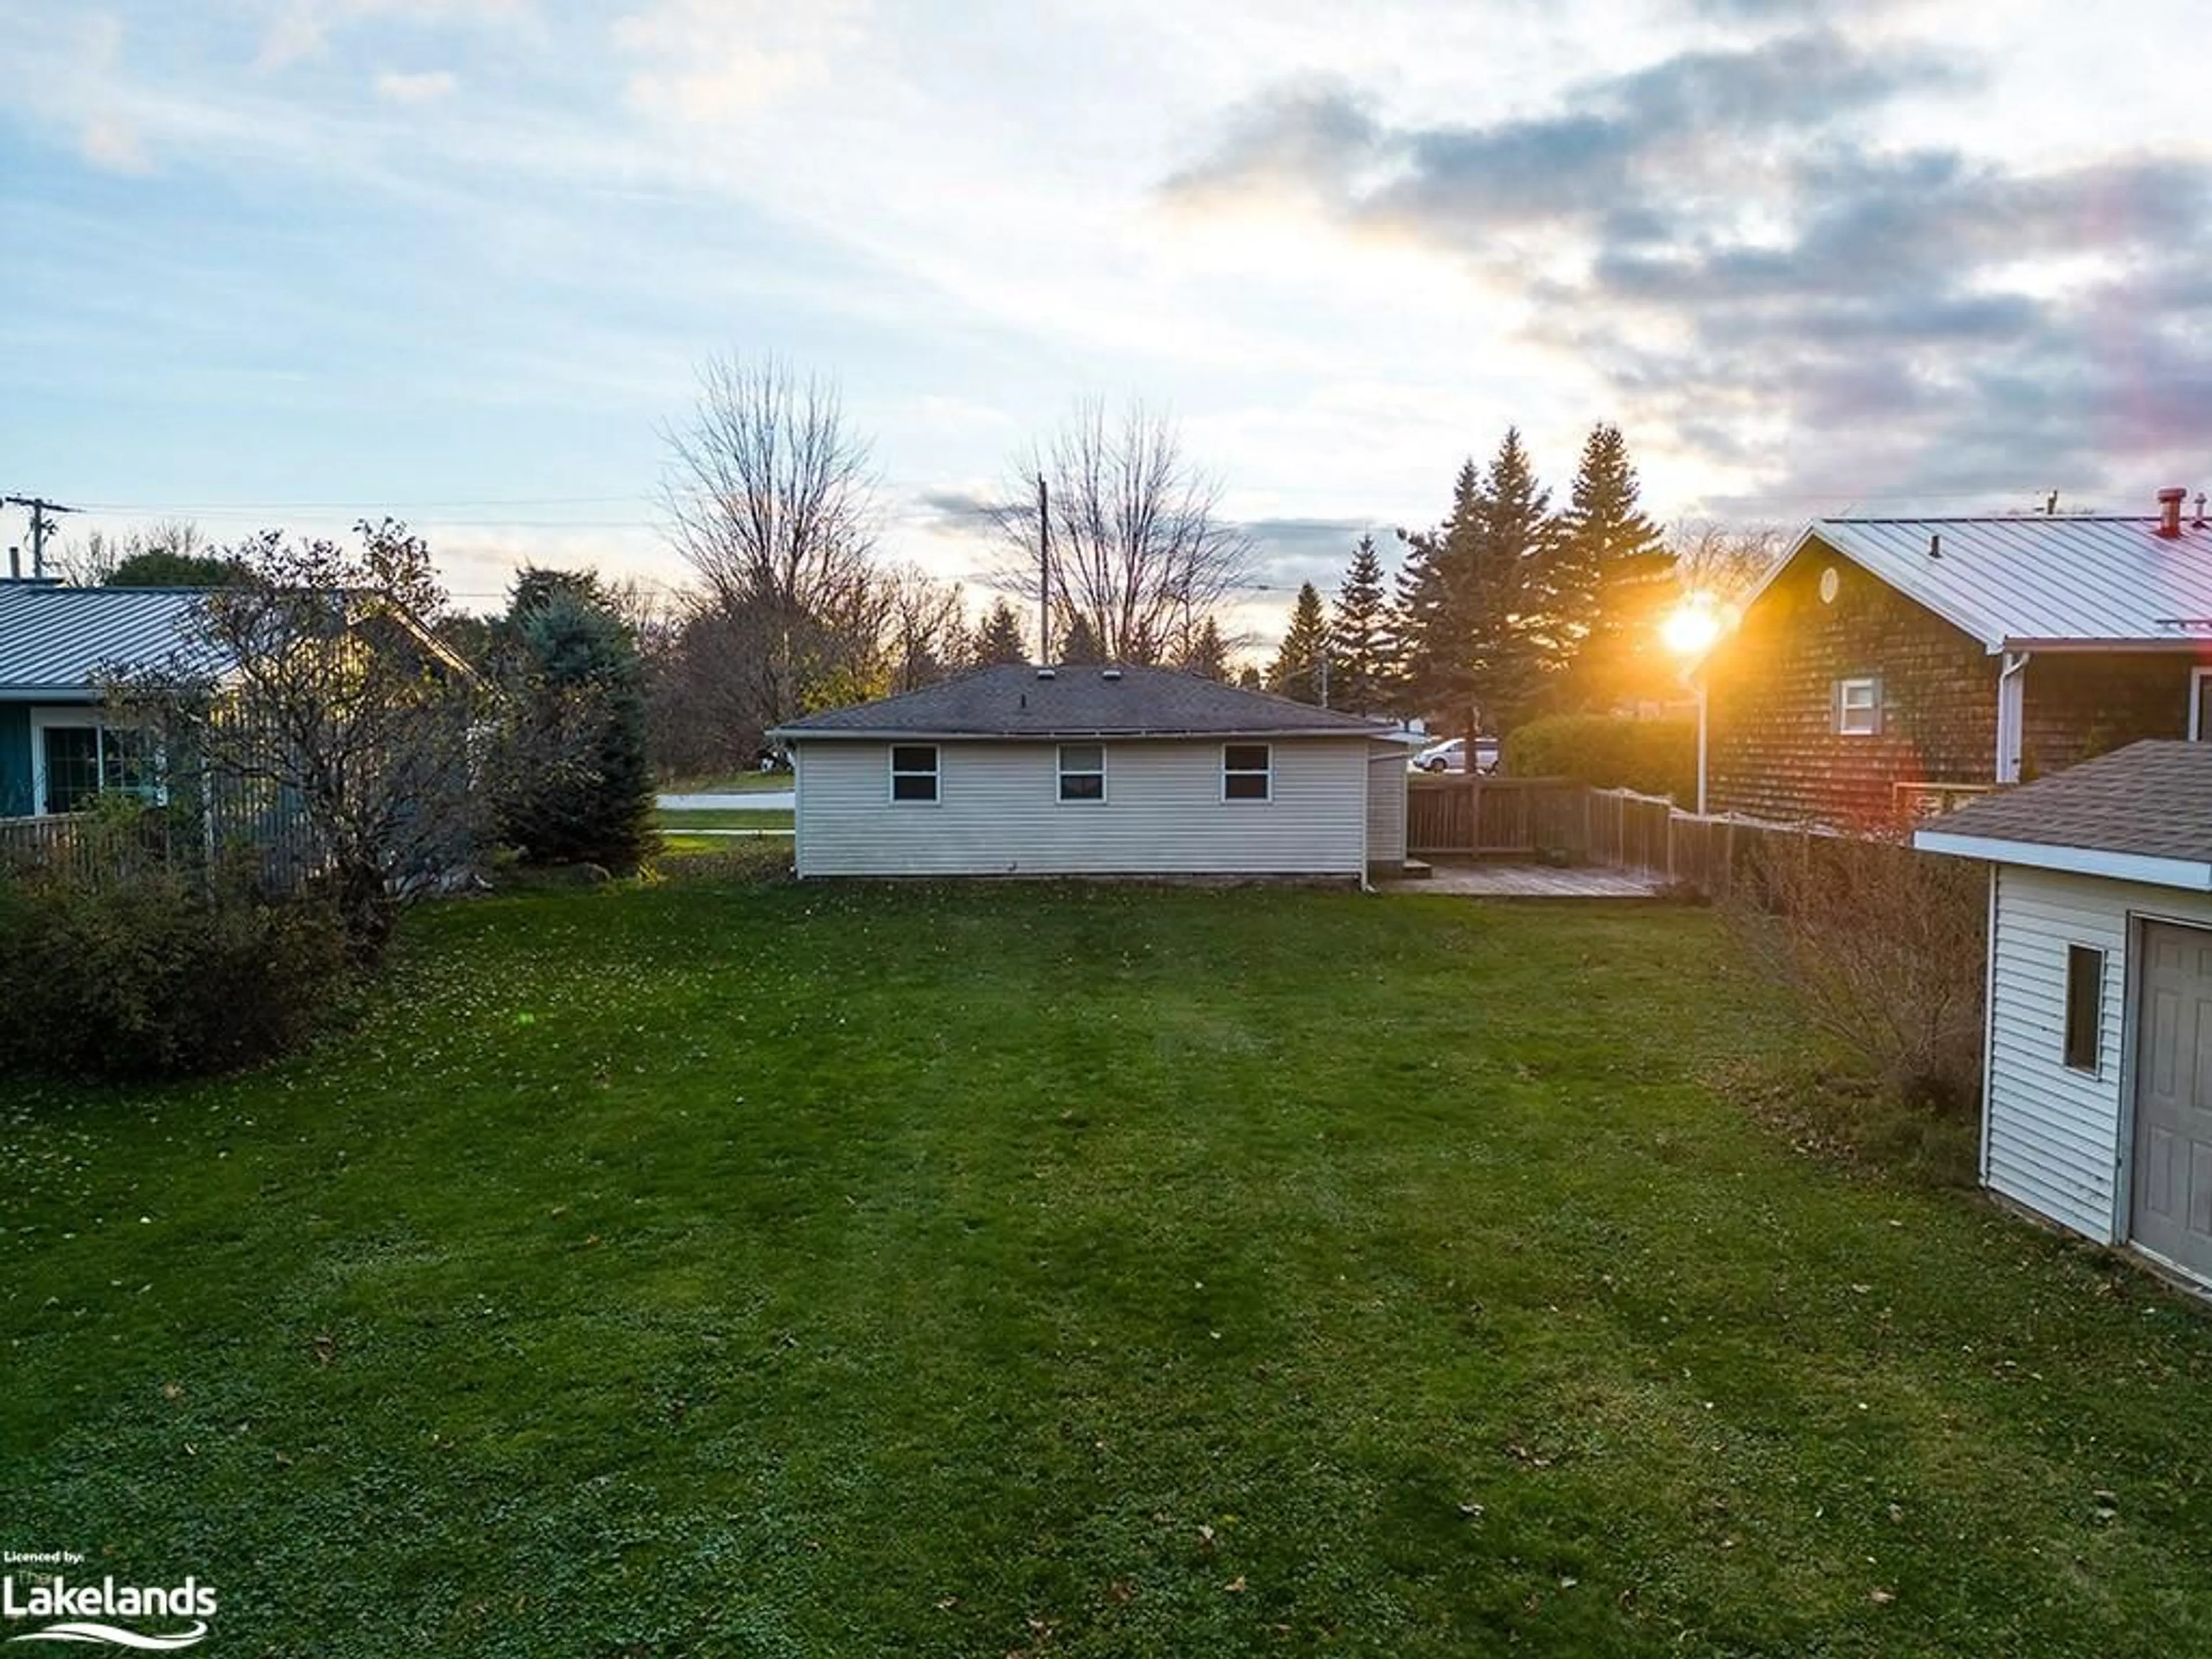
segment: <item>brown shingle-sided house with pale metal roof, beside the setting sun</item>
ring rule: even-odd
[[[1699,810],[1876,825],[2212,737],[2212,524],[1816,520],[1692,670]]]

